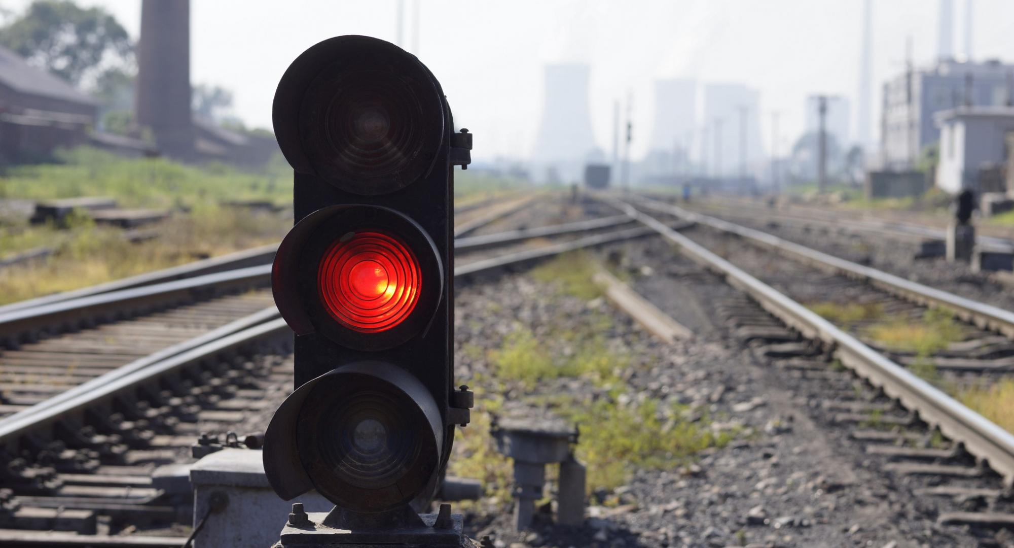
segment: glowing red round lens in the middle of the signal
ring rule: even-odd
[[[360,333],[386,331],[419,301],[422,272],[412,250],[379,231],[356,232],[323,254],[317,286],[328,314]]]

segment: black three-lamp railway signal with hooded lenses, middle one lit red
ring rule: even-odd
[[[452,384],[451,274],[453,167],[469,162],[472,135],[453,131],[440,83],[415,56],[358,36],[296,58],[273,119],[294,169],[295,225],[272,288],[296,334],[295,391],[268,427],[264,464],[282,498],[315,489],[336,504],[305,520],[353,532],[306,538],[294,511],[283,544],[297,533],[457,542],[448,508],[435,523],[418,512],[472,407]]]

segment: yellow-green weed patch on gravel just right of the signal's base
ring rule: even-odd
[[[451,473],[484,479],[494,503],[510,500],[511,465],[489,434],[491,416],[508,400],[578,425],[577,457],[587,467],[589,492],[624,485],[637,469],[689,464],[701,451],[724,447],[736,434],[713,429],[702,410],[668,405],[631,386],[631,372],[651,364],[638,362],[619,343],[615,316],[599,310],[604,304],[591,281],[595,268],[580,254],[533,270],[536,280],[556,284],[552,298],[570,301],[568,317],[552,325],[518,323],[499,347],[460,350],[473,362],[485,358],[493,378],[476,375],[469,382],[486,390],[477,391],[472,424],[458,430]]]

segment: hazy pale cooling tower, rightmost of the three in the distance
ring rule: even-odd
[[[701,148],[708,151],[708,157],[702,158],[708,174],[719,178],[738,177],[743,172],[752,173],[752,166],[766,159],[760,148],[759,115],[760,99],[756,89],[742,84],[705,85],[703,122],[711,128],[708,132],[711,142],[702,143]],[[745,151],[742,150],[744,144]],[[743,155],[745,165],[742,164]]]

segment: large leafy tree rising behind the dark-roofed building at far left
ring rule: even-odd
[[[0,27],[0,46],[75,85],[103,67],[134,62],[134,44],[112,14],[69,0],[35,0]]]

